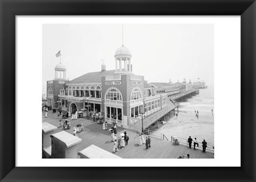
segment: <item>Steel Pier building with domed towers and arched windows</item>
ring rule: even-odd
[[[97,112],[105,121],[129,128],[143,116],[153,114],[168,104],[167,97],[175,94],[177,88],[157,92],[143,76],[132,73],[131,52],[122,45],[115,53],[115,70],[106,70],[103,62],[101,70],[89,72],[68,81],[66,68],[59,63],[55,67],[55,79],[47,81],[48,105],[64,112]]]

